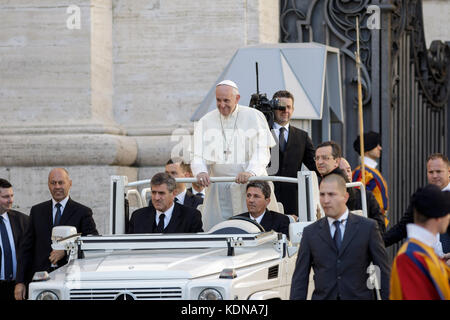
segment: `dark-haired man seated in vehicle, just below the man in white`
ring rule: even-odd
[[[270,202],[270,186],[266,181],[252,181],[247,184],[246,201],[248,212],[239,216],[258,222],[266,231],[274,230],[289,237],[289,218],[284,214],[267,210]]]

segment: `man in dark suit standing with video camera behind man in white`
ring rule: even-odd
[[[316,171],[314,162],[314,146],[308,133],[304,130],[292,126],[291,120],[294,112],[294,96],[286,90],[275,92],[273,98],[278,98],[280,105],[285,106],[285,110],[274,111],[274,124],[271,128],[275,139],[278,141],[278,162],[273,157],[270,168],[277,172],[270,172],[271,175],[297,178],[297,172],[301,170],[302,163],[311,171]],[[276,156],[275,156],[276,158]],[[278,166],[277,166],[278,165]],[[275,196],[281,202],[285,214],[298,216],[298,186],[294,183],[274,182]]]

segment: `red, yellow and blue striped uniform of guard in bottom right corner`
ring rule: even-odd
[[[397,253],[391,271],[391,300],[450,300],[450,267],[433,248],[409,239]]]

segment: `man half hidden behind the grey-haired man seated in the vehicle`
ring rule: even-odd
[[[181,162],[173,162],[172,159],[166,163],[166,173],[173,178],[189,178],[186,172],[186,164]],[[187,207],[197,208],[199,204],[203,203],[203,198],[193,195],[191,191],[186,189],[186,184],[178,182],[175,188],[175,201]]]

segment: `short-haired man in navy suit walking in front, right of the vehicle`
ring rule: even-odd
[[[314,300],[374,299],[369,285],[371,262],[381,288],[389,297],[388,257],[375,221],[349,213],[348,193],[342,176],[331,174],[320,183],[320,204],[325,217],[303,230],[292,276],[291,299],[305,300],[309,272],[314,271]]]

